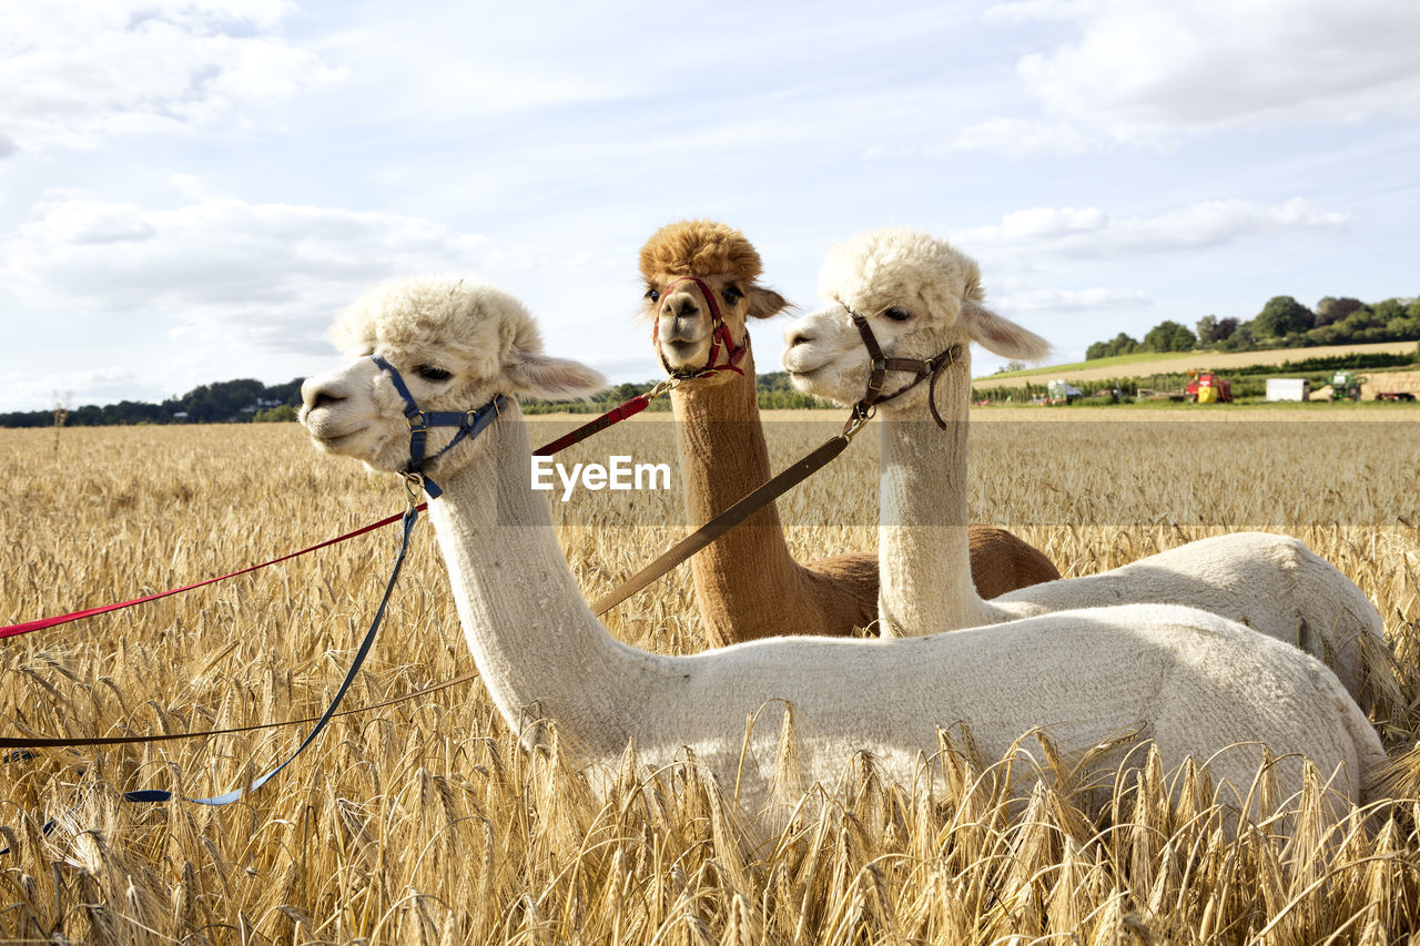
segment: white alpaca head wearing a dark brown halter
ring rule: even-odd
[[[927,233],[872,230],[838,243],[828,251],[818,287],[834,305],[788,327],[782,364],[795,388],[843,405],[863,398],[872,371],[851,312],[868,320],[888,358],[937,358],[958,345],[956,364],[944,371],[970,374],[971,342],[1025,361],[1049,351],[1044,338],[985,308],[976,261]],[[895,391],[912,378],[889,371],[883,388]],[[919,385],[885,409],[916,411],[926,398],[927,385]]]

